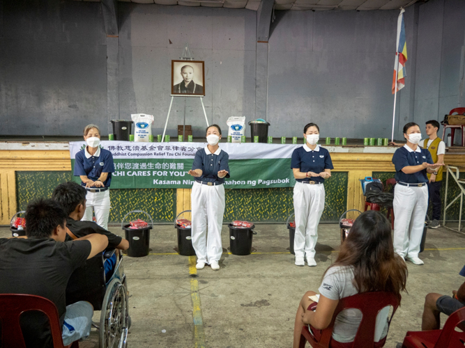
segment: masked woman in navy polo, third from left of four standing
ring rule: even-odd
[[[294,252],[297,266],[305,266],[304,255],[309,266],[317,266],[315,262],[317,229],[325,204],[323,182],[331,176],[331,169],[334,168],[328,150],[317,144],[319,133],[320,129],[314,123],[306,125],[303,129],[305,145],[296,148],[291,159],[291,168],[296,178]]]

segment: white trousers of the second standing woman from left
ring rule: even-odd
[[[197,262],[218,262],[223,251],[221,228],[224,214],[224,185],[208,186],[194,182],[190,194],[192,246]],[[208,224],[208,236],[207,236]]]

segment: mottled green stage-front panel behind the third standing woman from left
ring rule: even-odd
[[[333,172],[325,182],[326,206],[321,221],[339,221],[347,206],[347,173]],[[224,222],[285,222],[294,212],[293,187],[227,189]]]

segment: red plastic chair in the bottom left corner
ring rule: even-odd
[[[55,304],[43,297],[26,294],[0,294],[1,347],[26,348],[20,326],[20,315],[38,310],[47,315],[52,331],[53,346],[65,348],[61,338],[60,320]],[[79,342],[66,346],[78,348]]]

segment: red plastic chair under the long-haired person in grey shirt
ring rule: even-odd
[[[356,337],[352,342],[353,348],[373,348],[374,347],[374,329],[376,323],[376,315],[379,311],[386,306],[392,306],[392,315],[389,318],[388,325],[392,316],[394,315],[399,301],[395,294],[392,292],[365,292],[363,294],[356,294],[349,297],[344,297],[337,303],[336,310],[334,311],[333,319],[329,326],[321,331],[321,338],[317,342],[314,336],[308,331],[308,326],[302,328],[300,335],[300,348],[305,347],[305,343],[309,342],[314,348],[329,348],[331,335],[333,334],[334,322],[337,315],[346,308],[358,308],[362,314],[362,322],[358,326]],[[386,341],[385,341],[386,342]],[[378,344],[377,344],[378,345]],[[382,347],[382,345],[381,345]]]

